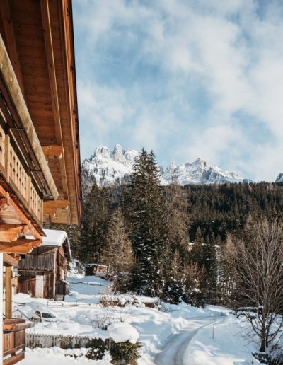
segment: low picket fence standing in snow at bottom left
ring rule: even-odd
[[[25,334],[25,346],[30,349],[36,347],[53,347],[57,346],[61,349],[79,349],[81,347],[91,347],[101,345],[101,339],[92,339],[88,336],[64,336],[64,335],[45,335],[40,333],[26,333]],[[110,339],[105,339],[105,349],[110,349]]]

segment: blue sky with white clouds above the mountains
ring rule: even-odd
[[[74,0],[81,160],[115,144],[283,171],[283,1]]]

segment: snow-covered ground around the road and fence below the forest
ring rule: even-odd
[[[209,306],[194,308],[185,303],[166,305],[158,310],[144,306],[145,297],[120,296],[121,303],[131,302],[124,308],[99,304],[101,296],[110,294],[110,283],[99,277],[69,277],[70,294],[66,301],[31,299],[17,294],[17,303],[37,301],[48,306],[57,315],[56,322],[37,323],[28,331],[40,334],[88,335],[89,337],[110,337],[107,330],[98,328],[103,320],[130,323],[139,333],[141,342],[138,361],[140,365],[248,365],[256,364],[251,352],[255,344],[243,334],[248,324],[237,319],[226,308]],[[86,349],[63,350],[27,349],[23,365],[65,365],[65,364],[111,364],[106,354],[101,361],[86,357],[70,357],[85,354]],[[254,361],[254,362],[252,362]]]

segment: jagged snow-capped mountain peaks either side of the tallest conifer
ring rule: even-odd
[[[120,144],[116,144],[114,150],[106,146],[100,146],[82,164],[83,182],[93,182],[96,179],[98,185],[103,182],[114,184],[125,182],[132,174],[135,158],[138,151],[134,149],[123,150]],[[248,182],[240,178],[237,173],[222,170],[219,166],[209,166],[206,161],[197,158],[192,163],[184,163],[177,166],[171,162],[166,170],[160,168],[161,184],[168,185],[178,182],[180,185],[187,184],[222,184],[225,182]]]

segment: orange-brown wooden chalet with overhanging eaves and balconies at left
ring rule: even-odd
[[[12,272],[43,222],[79,224],[81,179],[71,0],[0,1],[0,359],[24,357]],[[3,317],[5,318],[3,320]]]

